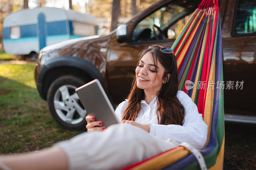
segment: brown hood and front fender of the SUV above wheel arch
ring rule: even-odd
[[[40,50],[36,64],[46,66],[45,63],[49,63],[47,61],[61,56],[79,57],[93,63],[98,70],[104,71],[112,35],[113,33],[76,38],[47,46]]]

